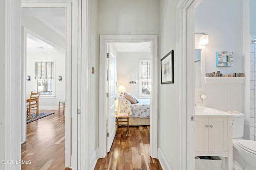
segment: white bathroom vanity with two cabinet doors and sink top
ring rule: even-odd
[[[195,156],[225,157],[226,170],[232,170],[233,115],[208,107],[195,108]]]

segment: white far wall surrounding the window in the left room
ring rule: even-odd
[[[27,99],[30,97],[31,91],[35,91],[36,79],[35,77],[35,66],[34,60],[54,60],[55,61],[55,97],[54,98],[43,98],[40,96],[39,109],[58,109],[58,102],[65,101],[66,97],[66,59],[65,55],[55,51],[49,52],[27,52],[27,75],[31,76],[31,81],[27,81]],[[62,81],[58,81],[58,76],[62,76]]]

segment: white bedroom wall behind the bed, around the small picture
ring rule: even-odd
[[[139,98],[139,61],[150,60],[150,52],[118,52],[117,81],[126,91]],[[137,75],[137,84],[129,84],[129,74]]]

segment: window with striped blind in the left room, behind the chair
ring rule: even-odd
[[[35,61],[36,91],[41,96],[54,95],[54,61]]]

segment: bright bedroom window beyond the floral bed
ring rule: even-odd
[[[150,96],[151,93],[150,60],[140,61],[140,96]]]

